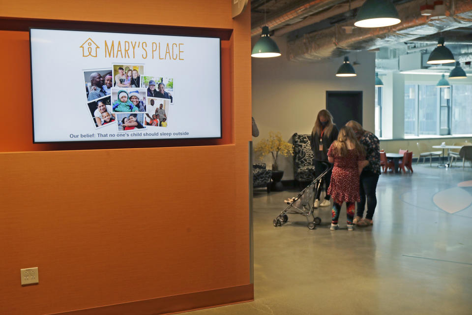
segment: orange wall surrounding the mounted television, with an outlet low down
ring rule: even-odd
[[[8,87],[17,95],[13,116],[24,117],[20,126],[0,124],[0,314],[52,314],[207,290],[217,295],[218,289],[241,286],[250,289],[250,297],[241,299],[252,298],[249,8],[233,20],[230,1],[196,2],[168,1],[150,10],[148,1],[138,0],[133,10],[141,12],[136,23],[233,30],[223,43],[224,136],[215,142],[104,144],[122,149],[102,150],[94,144],[33,145],[27,33],[0,32],[8,47],[0,58],[18,79]],[[4,2],[0,20],[133,22],[124,18],[128,2],[91,10],[95,3]],[[166,14],[158,14],[160,8]],[[196,146],[171,147],[189,144]],[[88,147],[94,150],[69,150]],[[123,160],[139,166],[118,167]],[[40,283],[22,287],[19,269],[36,266]],[[205,296],[203,306],[237,302]],[[140,305],[133,314],[151,314]],[[118,306],[113,314],[124,313]]]

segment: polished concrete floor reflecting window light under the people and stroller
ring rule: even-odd
[[[462,163],[461,163],[462,164]],[[427,164],[425,164],[427,165]],[[385,174],[374,226],[274,227],[296,191],[254,193],[255,301],[189,314],[472,314],[472,169]]]

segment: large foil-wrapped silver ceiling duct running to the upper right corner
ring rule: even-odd
[[[346,34],[341,28],[352,26],[354,20],[350,20],[329,29],[307,33],[298,39],[289,40],[287,56],[292,61],[314,62],[320,59],[341,57],[347,51],[371,50],[412,41],[425,35],[472,26],[472,1],[455,0],[453,2],[454,14],[451,15],[450,7],[448,7],[447,17],[439,20],[421,16],[419,7],[424,4],[424,0],[413,0],[397,5],[402,23],[394,27],[373,30],[356,29],[354,33]]]

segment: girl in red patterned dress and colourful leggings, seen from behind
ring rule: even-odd
[[[348,231],[352,231],[355,203],[360,201],[359,174],[369,162],[351,127],[344,126],[339,130],[337,141],[329,147],[328,160],[334,163],[327,191],[334,201],[330,229],[339,229],[339,212],[346,202]]]

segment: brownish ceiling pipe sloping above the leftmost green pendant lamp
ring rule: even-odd
[[[266,23],[264,21],[254,25],[251,29],[251,36],[261,35],[261,28],[268,26],[270,30],[278,29],[283,25],[289,24],[290,21],[298,21],[306,16],[320,12],[327,8],[330,8],[336,4],[344,2],[346,0],[312,0],[307,1],[305,4],[299,5],[293,9],[288,10],[284,14],[275,18],[269,19]]]

